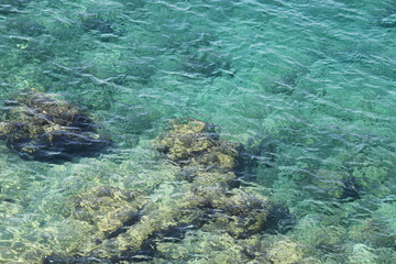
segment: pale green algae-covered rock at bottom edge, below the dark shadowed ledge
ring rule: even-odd
[[[284,235],[251,235],[235,239],[221,231],[188,231],[180,243],[161,242],[160,260],[153,263],[249,263],[249,264],[321,264],[309,256],[298,242]],[[199,261],[198,261],[199,260]]]

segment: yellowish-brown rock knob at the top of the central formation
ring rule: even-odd
[[[153,142],[153,147],[182,167],[180,175],[201,185],[230,184],[240,165],[239,144],[220,140],[215,129],[195,120],[170,120],[172,129]]]

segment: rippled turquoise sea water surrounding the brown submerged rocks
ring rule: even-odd
[[[394,0],[0,0],[0,99],[55,95],[114,142],[57,164],[0,143],[0,263],[396,263],[395,40]],[[245,145],[239,189],[272,200],[279,224],[96,258],[74,199],[113,187],[143,191],[145,216],[177,208],[188,186],[151,142],[187,117]]]

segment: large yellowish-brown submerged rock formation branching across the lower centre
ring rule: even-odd
[[[206,245],[208,250],[233,248],[233,258],[239,263],[283,263],[286,258],[290,260],[285,263],[300,263],[305,256],[297,243],[286,241],[268,248],[260,240],[273,202],[265,196],[231,187],[237,179],[233,169],[239,164],[239,145],[220,140],[198,120],[170,123],[170,130],[153,141],[153,147],[166,154],[167,163],[179,173],[150,194],[100,187],[76,197],[70,218],[92,227],[94,242],[86,243],[72,258],[53,254],[43,263],[172,260],[173,249],[179,246],[176,242],[183,243],[185,235],[201,231],[217,233],[219,241],[227,241],[223,245],[211,241]],[[286,248],[292,251],[280,254]],[[180,260],[188,257],[185,252]]]

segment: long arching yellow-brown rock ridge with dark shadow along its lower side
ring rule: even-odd
[[[88,255],[117,261],[148,258],[158,243],[182,241],[188,230],[204,224],[204,231],[224,230],[231,238],[248,239],[263,230],[271,207],[266,199],[209,187],[176,198],[173,207],[167,205],[170,200],[175,198],[147,204],[138,222],[125,227],[125,232],[103,240]]]

